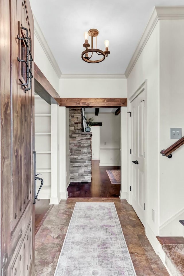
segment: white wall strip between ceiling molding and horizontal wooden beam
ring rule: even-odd
[[[62,98],[127,97],[126,79],[60,79]]]

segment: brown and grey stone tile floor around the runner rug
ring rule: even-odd
[[[169,276],[132,206],[119,198],[68,198],[54,205],[35,236],[35,276],[54,275],[76,202],[114,202],[137,276]]]

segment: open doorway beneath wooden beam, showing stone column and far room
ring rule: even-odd
[[[98,110],[98,111],[97,111]],[[120,112],[118,115],[115,114],[117,108],[85,108],[85,116],[87,120],[93,118],[94,125],[91,126],[91,175],[88,182],[83,181],[83,175],[78,179],[78,172],[84,172],[82,167],[77,170],[80,162],[85,162],[84,158],[89,160],[89,156],[86,156],[85,151],[87,144],[81,144],[81,141],[78,140],[78,143],[74,143],[75,134],[71,134],[71,145],[70,145],[70,159],[72,170],[71,177],[74,180],[68,186],[68,196],[69,197],[119,197],[120,196]],[[76,112],[76,110],[71,110],[71,112]],[[80,114],[80,112],[78,112]],[[77,117],[76,114],[72,115],[74,118]],[[74,120],[70,116],[70,119]],[[78,120],[78,119],[77,119]],[[75,122],[76,123],[76,122]],[[80,122],[77,121],[77,125],[80,125]],[[86,126],[84,126],[85,129]],[[71,124],[71,131],[74,131],[74,124]],[[78,136],[77,129],[77,136]],[[89,133],[89,135],[90,135]],[[89,136],[88,135],[88,136]],[[81,137],[83,139],[83,137]],[[88,138],[88,140],[90,140]],[[82,140],[83,141],[83,140]],[[89,142],[89,141],[88,141]],[[73,146],[73,143],[75,146]],[[81,156],[77,157],[75,169],[73,164],[75,163],[75,155],[79,155],[81,149]],[[76,154],[74,149],[76,148]],[[79,162],[79,164],[77,163]],[[85,168],[84,168],[85,169]],[[89,169],[89,164],[88,164]],[[76,171],[77,170],[77,171]],[[73,176],[74,175],[74,176]],[[75,178],[76,177],[76,178]],[[119,182],[113,182],[115,178],[119,179]],[[76,181],[75,181],[76,179]]]

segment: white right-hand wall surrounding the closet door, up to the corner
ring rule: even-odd
[[[160,22],[154,28],[127,79],[128,98],[147,79],[147,151],[145,151],[147,202],[145,202],[145,228],[150,239],[152,235],[158,235],[159,225],[159,32]],[[129,120],[129,114],[127,114],[127,120]],[[130,143],[128,148],[131,148]],[[129,193],[129,189],[127,191]],[[152,209],[155,211],[155,221],[152,221]]]

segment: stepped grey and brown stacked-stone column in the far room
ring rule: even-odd
[[[91,133],[81,132],[81,108],[70,108],[70,181],[91,182]]]

